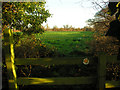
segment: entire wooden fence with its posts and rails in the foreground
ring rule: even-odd
[[[106,81],[106,63],[120,63],[117,56],[108,56],[99,54],[98,58],[98,75],[89,77],[52,77],[52,78],[33,78],[19,77],[17,78],[15,65],[73,65],[83,64],[81,58],[14,58],[13,34],[12,30],[4,30],[5,40],[5,60],[8,72],[9,88],[19,89],[19,85],[80,85],[93,84],[97,81],[97,88],[103,90],[105,88],[119,87],[120,81]],[[90,59],[89,64],[94,63]]]

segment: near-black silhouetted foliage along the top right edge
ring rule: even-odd
[[[116,37],[120,42],[120,3],[118,2],[109,2],[108,4],[110,15],[116,14],[116,20],[110,23],[110,28],[106,36]],[[118,53],[118,59],[120,59],[120,48]]]

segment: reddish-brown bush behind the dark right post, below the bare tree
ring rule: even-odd
[[[96,37],[90,45],[95,55],[97,55],[98,52],[105,52],[108,55],[117,55],[119,52],[119,40],[110,36]]]

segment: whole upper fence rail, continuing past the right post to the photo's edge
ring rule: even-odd
[[[60,57],[60,58],[15,58],[15,65],[71,65],[71,64],[83,64],[83,59],[85,57]],[[91,58],[89,59],[89,64],[94,64],[96,61]],[[117,60],[117,56],[106,55],[106,63],[120,63]]]

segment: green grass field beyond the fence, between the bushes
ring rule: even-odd
[[[63,56],[78,56],[89,53],[88,42],[93,39],[93,32],[90,31],[46,31],[36,38],[50,46],[54,46]]]

